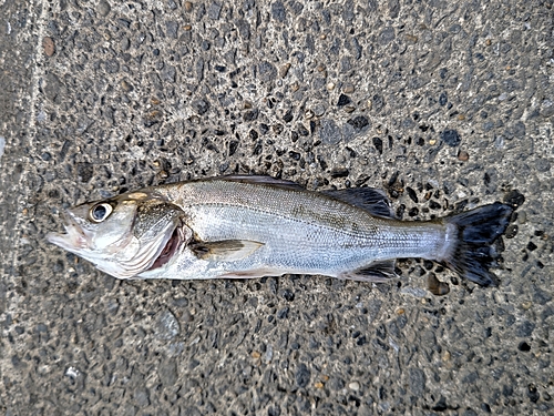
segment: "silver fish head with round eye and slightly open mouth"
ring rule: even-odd
[[[145,192],[76,205],[63,219],[65,233],[47,240],[117,278],[166,267],[192,239],[183,211]]]

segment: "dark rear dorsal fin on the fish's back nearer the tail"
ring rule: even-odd
[[[381,190],[375,187],[348,187],[345,190],[324,191],[322,193],[369,211],[372,215],[387,219],[394,217],[394,213],[390,207],[390,200]]]

